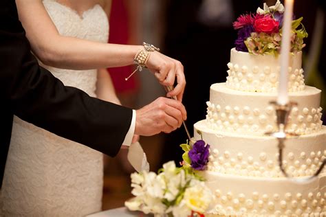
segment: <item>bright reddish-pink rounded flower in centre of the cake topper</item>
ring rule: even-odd
[[[273,32],[279,32],[279,21],[275,21],[270,16],[264,16],[254,21],[255,32],[265,32],[272,34]]]

